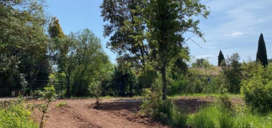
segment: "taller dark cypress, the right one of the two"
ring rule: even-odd
[[[261,61],[261,63],[264,66],[268,65],[266,43],[265,43],[264,36],[262,33],[260,35],[259,42],[258,42],[256,61]]]

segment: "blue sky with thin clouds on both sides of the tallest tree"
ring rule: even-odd
[[[99,5],[102,0],[47,0],[47,11],[59,19],[65,34],[85,28],[101,39],[104,51],[112,62],[116,54],[105,47],[109,38],[103,37],[103,25]],[[217,65],[221,49],[225,58],[234,52],[242,60],[250,56],[256,59],[258,39],[261,33],[267,47],[268,58],[272,58],[272,0],[202,0],[210,6],[210,17],[200,19],[199,28],[205,33],[206,42],[193,38],[201,47],[187,42],[191,55],[207,58]],[[186,36],[189,35],[186,34]]]

